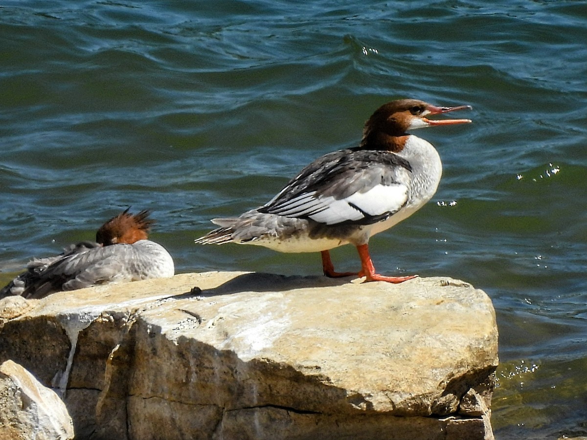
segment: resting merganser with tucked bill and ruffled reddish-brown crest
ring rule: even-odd
[[[0,298],[39,299],[60,290],[173,276],[171,255],[147,240],[154,223],[149,211],[133,215],[129,209],[104,223],[96,232],[96,242],[80,242],[57,256],[33,259],[26,272],[0,290]]]

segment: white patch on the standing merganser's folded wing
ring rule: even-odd
[[[332,196],[316,197],[315,191],[306,192],[273,209],[272,213],[286,217],[308,216],[316,222],[335,225],[345,221],[359,221],[366,216],[396,212],[406,201],[406,185],[379,184],[369,191],[355,192],[340,200]]]

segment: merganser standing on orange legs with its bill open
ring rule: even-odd
[[[359,147],[313,161],[267,204],[238,218],[217,218],[196,243],[235,242],[280,252],[321,252],[324,275],[358,275],[401,283],[416,277],[382,276],[369,255],[369,237],[414,214],[434,195],[442,163],[429,142],[407,130],[471,122],[427,116],[471,106],[436,107],[402,99],[379,107],[365,123]],[[335,272],[329,249],[353,244],[361,270]]]

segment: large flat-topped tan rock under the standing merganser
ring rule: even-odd
[[[0,360],[65,395],[77,438],[492,438],[495,313],[457,280],[209,272],[35,304]]]

